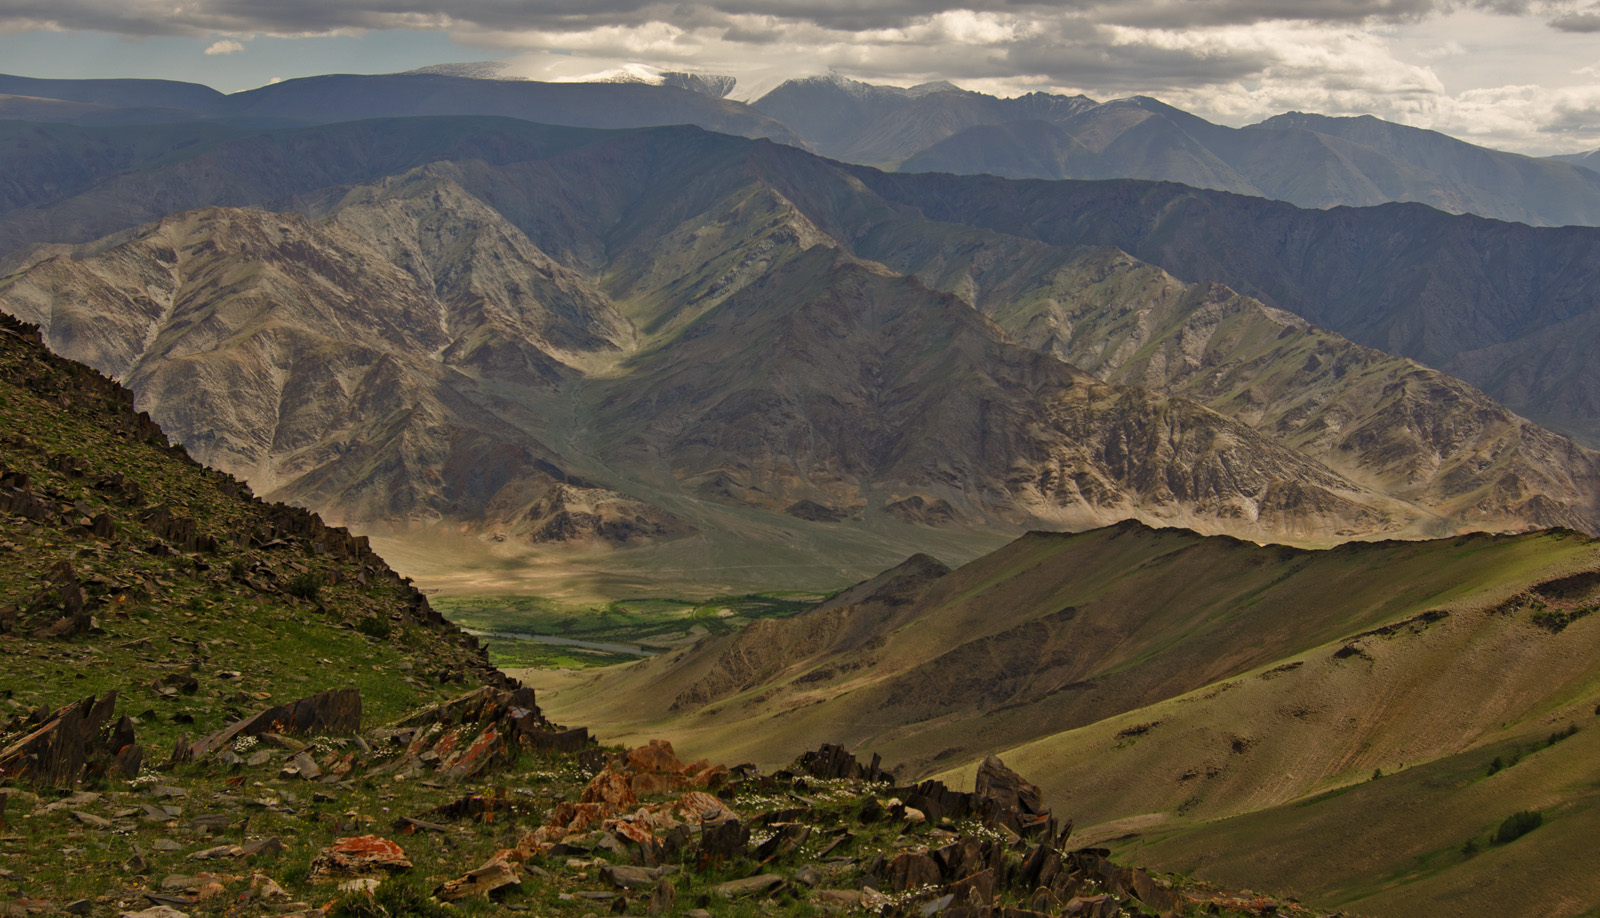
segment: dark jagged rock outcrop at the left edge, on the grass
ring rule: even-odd
[[[54,712],[38,729],[0,750],[0,779],[22,779],[67,787],[83,777],[138,774],[142,752],[133,742],[133,721],[112,724],[117,692],[90,696]],[[131,772],[123,771],[133,768]]]

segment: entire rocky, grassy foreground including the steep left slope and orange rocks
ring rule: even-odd
[[[965,793],[600,747],[13,320],[0,392],[6,916],[1312,913],[1075,848],[998,760]]]

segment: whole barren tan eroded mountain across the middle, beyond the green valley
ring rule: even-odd
[[[1595,454],[1227,288],[931,221],[773,144],[517,131],[13,256],[0,305],[200,459],[358,525],[1600,528]]]

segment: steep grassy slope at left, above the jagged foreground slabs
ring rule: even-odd
[[[448,670],[458,686],[493,675],[475,641],[365,539],[254,501],[240,481],[168,448],[133,414],[126,390],[48,355],[29,326],[0,321],[10,501],[0,517],[10,624],[0,691],[10,707],[118,691],[144,721],[141,739],[171,745],[266,697],[355,685],[384,720],[454,691],[403,670]],[[75,641],[30,637],[66,614],[54,587],[64,579],[98,630]],[[371,637],[379,633],[387,637]],[[182,673],[195,673],[195,691],[150,688]]]

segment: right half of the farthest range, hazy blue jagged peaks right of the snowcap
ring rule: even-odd
[[[1600,181],[1581,168],[1373,117],[1290,112],[1227,128],[1146,96],[998,99],[837,75],[790,80],[752,106],[826,157],[902,173],[1154,179],[1302,208],[1421,202],[1534,226],[1600,222]]]

